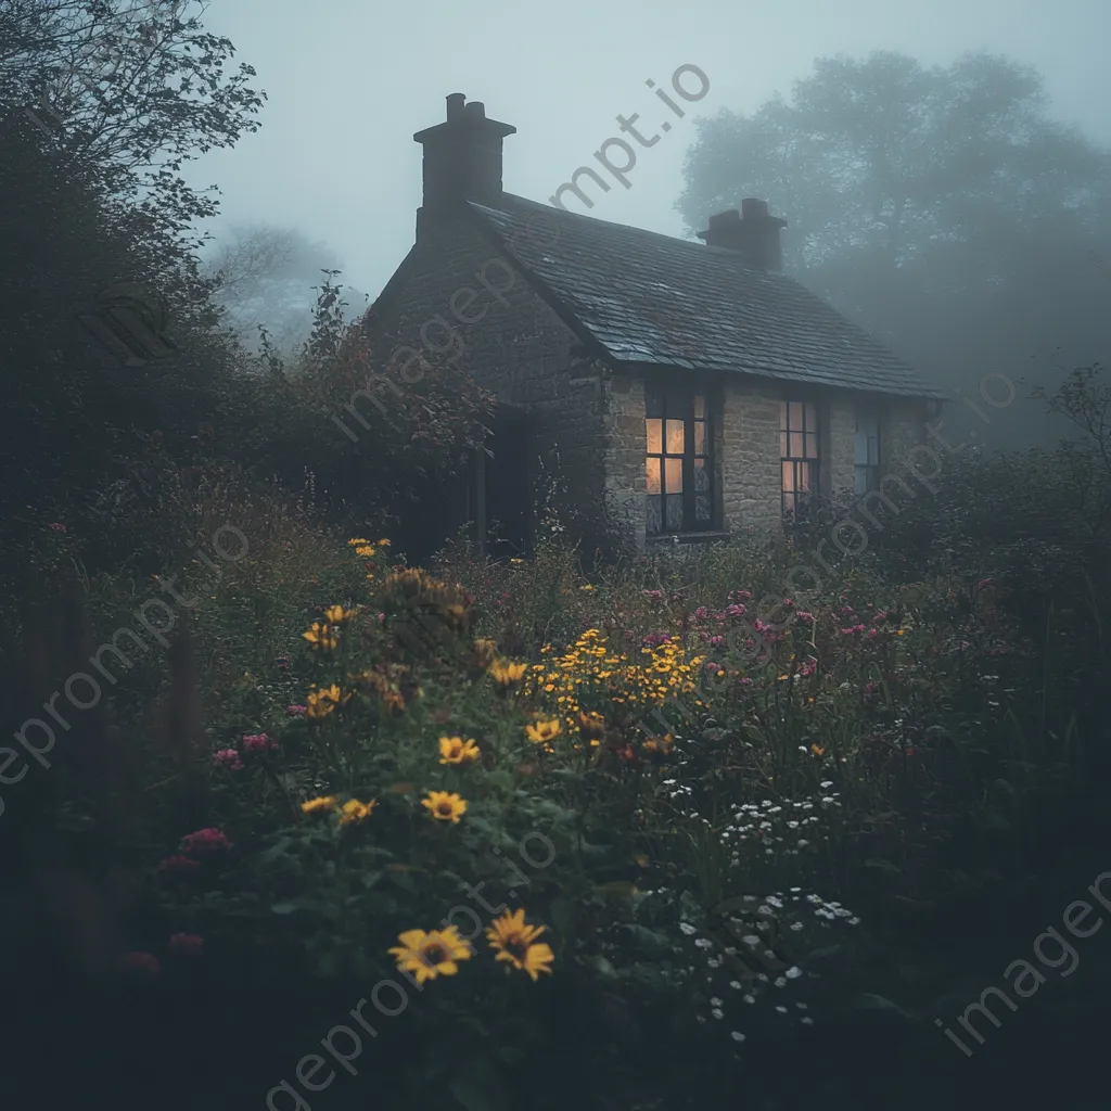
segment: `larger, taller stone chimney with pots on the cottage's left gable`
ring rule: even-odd
[[[501,197],[501,143],[517,128],[488,120],[480,100],[448,97],[448,118],[413,136],[424,148],[422,211],[450,209],[463,200],[497,204]],[[418,217],[419,219],[419,217]]]

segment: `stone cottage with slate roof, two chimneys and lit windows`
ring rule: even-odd
[[[454,93],[413,136],[416,243],[367,318],[407,344],[402,380],[436,352],[498,397],[489,452],[426,514],[441,537],[470,522],[527,551],[552,459],[588,543],[768,530],[815,492],[874,490],[922,441],[941,392],[779,272],[767,203],[711,217],[703,243],[567,211],[587,168],[539,204],[502,189],[516,130]]]

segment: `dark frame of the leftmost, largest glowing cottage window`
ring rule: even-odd
[[[698,401],[701,400],[702,416],[698,414]],[[659,416],[649,413],[659,412]],[[684,533],[712,532],[718,521],[717,491],[714,489],[714,422],[713,396],[707,383],[667,382],[663,380],[645,381],[644,383],[644,494],[645,499],[657,498],[660,506],[660,529],[650,529],[648,506],[644,513],[644,533],[649,538],[683,536]],[[651,421],[659,421],[659,450],[652,451],[653,437]],[[682,422],[682,451],[668,450],[669,422]],[[695,426],[702,424],[704,430],[703,450],[697,451]],[[682,524],[680,528],[668,526],[668,468],[667,460],[680,460],[679,474],[682,498]],[[655,461],[660,489],[653,493],[650,489],[649,469]],[[697,462],[701,462],[701,468]],[[695,470],[701,469],[707,477],[707,489],[697,490],[694,484]],[[710,506],[708,520],[699,520],[697,516],[697,499],[703,494]]]

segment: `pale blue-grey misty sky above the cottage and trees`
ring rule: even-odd
[[[190,181],[221,188],[228,221],[323,240],[340,280],[372,298],[413,241],[412,134],[444,118],[450,92],[517,127],[506,189],[547,201],[577,167],[597,166],[618,114],[641,113],[645,137],[668,118],[647,79],[668,88],[678,66],[698,66],[704,100],[639,151],[630,189],[614,183],[590,213],[670,234],[682,233],[673,206],[695,116],[789,94],[822,54],[888,49],[948,64],[964,50],[1003,53],[1043,74],[1053,116],[1111,146],[1111,0],[212,0],[203,22],[258,70],[269,100],[258,134],[193,163]]]

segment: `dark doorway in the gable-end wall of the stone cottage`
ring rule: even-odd
[[[532,542],[532,430],[517,414],[493,423],[484,460],[486,551],[496,558],[526,557]]]

